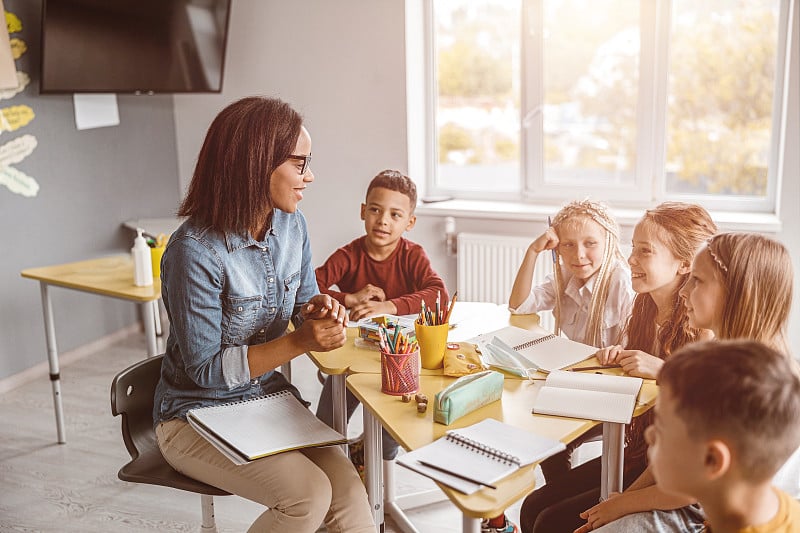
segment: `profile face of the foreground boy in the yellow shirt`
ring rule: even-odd
[[[702,486],[707,448],[689,435],[686,423],[675,413],[675,399],[662,386],[653,425],[645,431],[647,458],[658,486],[665,492],[697,498]]]

